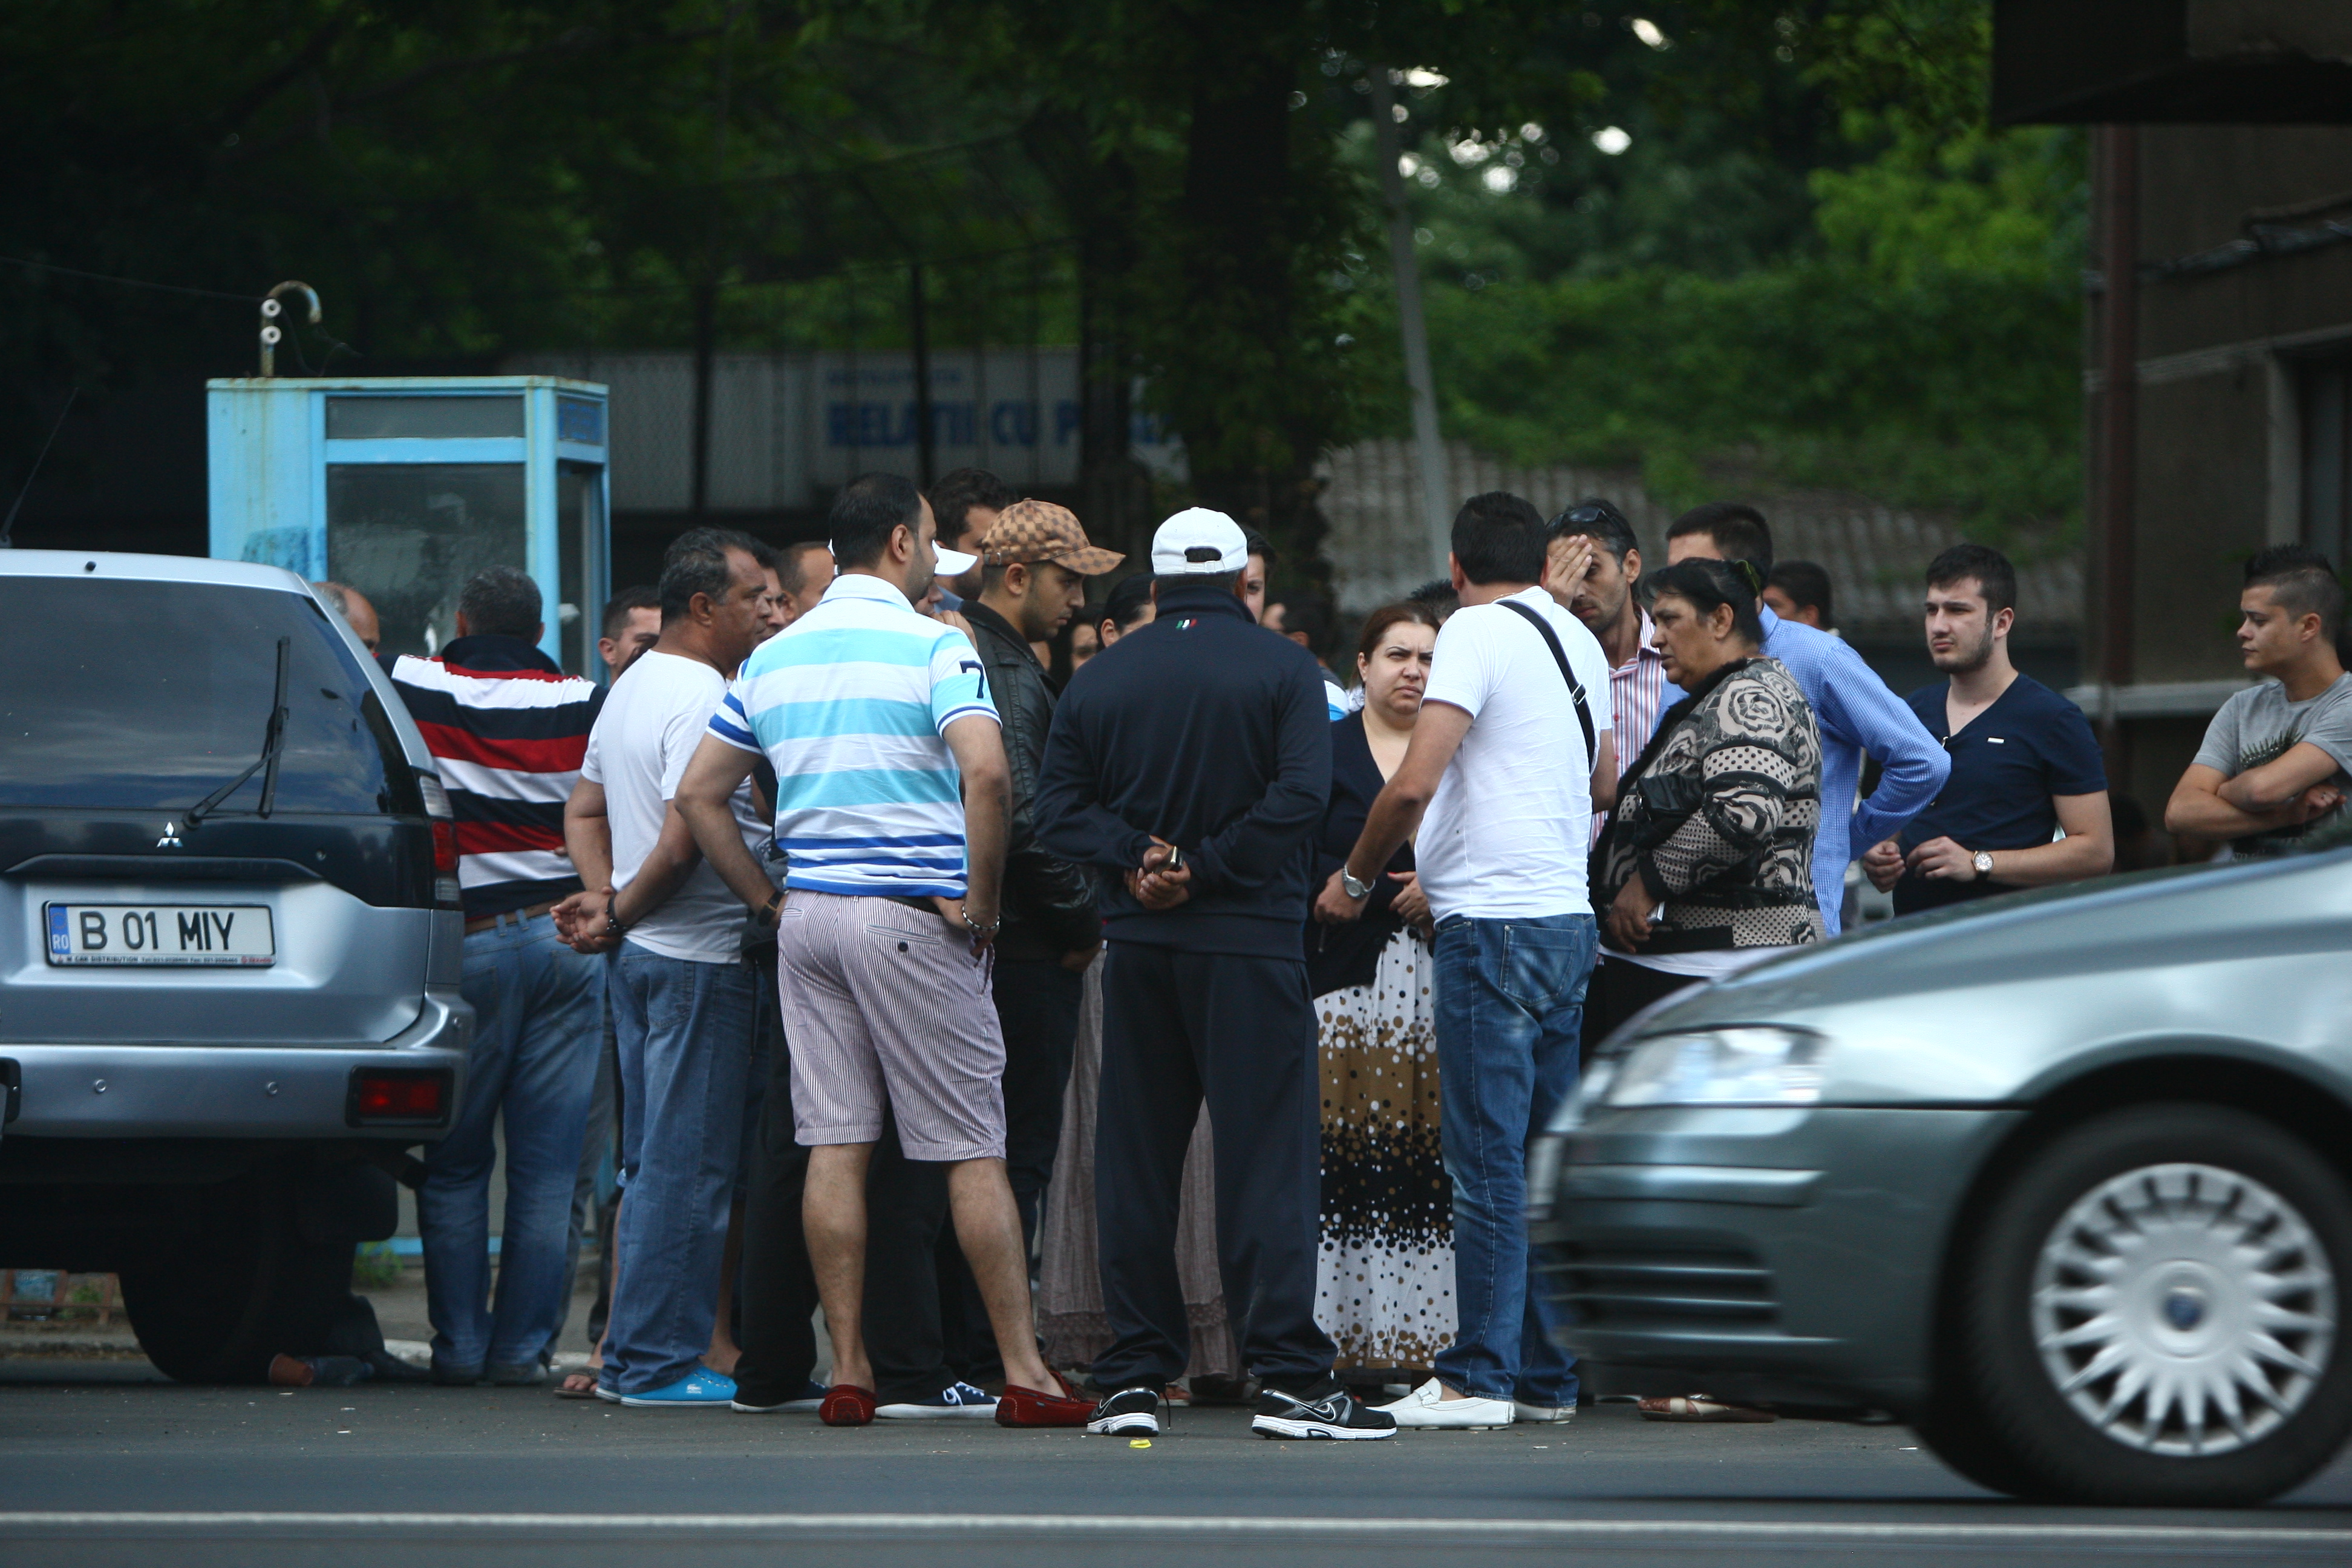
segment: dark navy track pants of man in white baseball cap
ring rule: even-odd
[[[1112,1345],[1101,1387],[1160,1387],[1192,1354],[1176,1208],[1202,1098],[1216,1128],[1216,1253],[1244,1366],[1279,1389],[1331,1375],[1315,1326],[1322,1072],[1305,959],[1110,943],[1094,1211]]]

